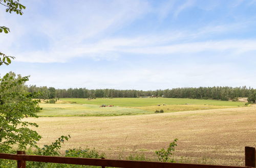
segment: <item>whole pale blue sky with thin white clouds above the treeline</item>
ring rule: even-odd
[[[0,52],[27,85],[256,88],[256,1],[20,1],[0,6]]]

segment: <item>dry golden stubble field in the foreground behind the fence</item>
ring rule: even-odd
[[[52,117],[36,122],[43,136],[39,145],[71,135],[63,145],[96,148],[108,158],[134,151],[152,157],[178,138],[176,158],[184,162],[243,165],[244,147],[256,146],[256,107],[182,111],[117,117]]]

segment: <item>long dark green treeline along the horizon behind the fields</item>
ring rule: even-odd
[[[142,90],[116,90],[86,88],[55,89],[53,87],[27,86],[29,92],[40,92],[36,98],[114,98],[114,97],[166,97],[166,98],[192,98],[192,99],[216,99],[230,100],[238,97],[249,97],[256,90],[244,87],[200,87],[200,88],[175,88],[155,91]]]

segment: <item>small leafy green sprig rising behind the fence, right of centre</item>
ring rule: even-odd
[[[170,156],[173,155],[172,151],[175,151],[175,147],[177,146],[177,144],[176,144],[177,141],[178,141],[178,139],[175,138],[174,141],[169,144],[169,147],[167,148],[167,150],[162,148],[161,150],[156,151],[156,155],[157,155],[159,161],[175,162],[174,158],[171,159]]]

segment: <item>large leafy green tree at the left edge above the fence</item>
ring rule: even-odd
[[[28,126],[37,127],[36,123],[23,119],[35,117],[40,109],[37,100],[32,100],[33,94],[22,88],[29,76],[15,78],[7,73],[0,78],[0,151],[5,152],[11,146],[17,145],[20,150],[27,146],[36,147],[40,135]]]

